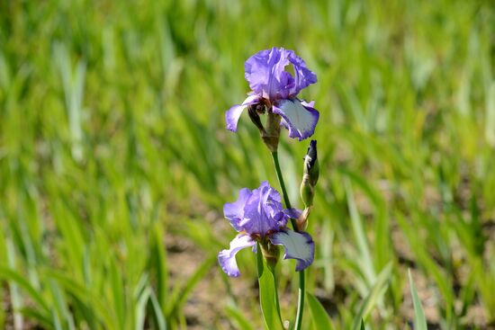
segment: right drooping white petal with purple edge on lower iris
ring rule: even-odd
[[[286,229],[270,236],[275,245],[284,246],[284,259],[296,259],[296,271],[302,271],[314,260],[314,242],[308,233],[297,233]]]

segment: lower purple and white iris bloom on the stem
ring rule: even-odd
[[[273,245],[284,246],[284,259],[296,259],[296,271],[308,267],[314,259],[314,242],[308,233],[298,233],[287,227],[292,210],[284,210],[280,194],[267,182],[250,191],[240,190],[238,201],[223,206],[223,214],[230,225],[238,232],[230,242],[229,250],[219,253],[219,263],[223,272],[237,277],[236,254],[246,247],[256,247],[269,241]]]

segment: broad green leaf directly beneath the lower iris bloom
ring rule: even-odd
[[[259,303],[265,318],[266,328],[269,330],[284,329],[280,313],[277,312],[275,277],[263,261],[259,244],[257,244],[257,277],[259,281]]]

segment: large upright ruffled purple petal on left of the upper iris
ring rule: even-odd
[[[294,77],[285,71],[290,53],[293,51],[274,47],[247,58],[244,76],[254,93],[271,101],[289,96],[294,89]]]

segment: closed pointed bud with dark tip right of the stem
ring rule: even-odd
[[[320,165],[318,164],[318,153],[316,150],[316,140],[311,140],[308,153],[304,156],[304,169],[301,183],[301,198],[306,208],[313,205],[313,197],[320,176]]]

